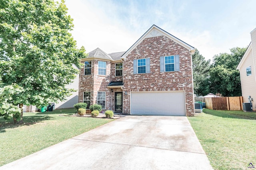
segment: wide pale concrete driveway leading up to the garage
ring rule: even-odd
[[[187,117],[126,116],[1,170],[212,169]]]

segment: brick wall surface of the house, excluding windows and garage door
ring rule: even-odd
[[[184,43],[184,42],[183,42]],[[89,53],[90,54],[90,53]],[[179,55],[179,71],[160,72],[160,57]],[[120,56],[121,57],[121,56]],[[110,57],[111,58],[111,57]],[[134,74],[134,59],[150,58],[150,73]],[[92,61],[91,75],[80,72],[79,101],[83,93],[91,92],[90,104],[97,103],[97,92],[106,92],[106,111],[114,111],[114,94],[123,92],[123,113],[130,114],[130,92],[184,91],[186,115],[194,115],[192,57],[190,50],[165,35],[146,37],[130,51],[122,61],[100,60],[90,56],[84,61]],[[106,61],[106,76],[98,75],[98,61]],[[123,62],[123,76],[115,76],[115,64]],[[123,87],[108,88],[110,82],[123,82]],[[111,91],[113,90],[113,92]]]

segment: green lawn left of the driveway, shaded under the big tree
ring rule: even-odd
[[[59,116],[75,112],[75,109],[58,109],[45,113],[24,113],[22,125],[14,125],[0,117],[0,166],[113,121]]]

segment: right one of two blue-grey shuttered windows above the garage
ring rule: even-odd
[[[160,72],[180,71],[179,55],[160,57]]]

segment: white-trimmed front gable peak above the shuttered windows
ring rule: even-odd
[[[184,41],[178,39],[177,37],[174,37],[172,34],[164,31],[163,29],[159,28],[156,25],[152,25],[152,27],[150,27],[150,29],[148,29],[148,31],[146,31],[146,33],[144,33],[137,41],[136,43],[134,43],[134,45],[132,45],[132,47],[130,47],[130,49],[128,49],[124,55],[121,57],[122,59],[125,59],[126,56],[128,54],[130,54],[130,52],[132,50],[134,50],[145,38],[150,38],[150,37],[156,37],[156,36],[161,36],[164,35],[168,38],[170,38],[172,41],[178,43],[179,45],[185,47],[186,49],[188,49],[191,54],[194,53],[195,49],[194,47],[192,47],[191,45],[185,43]]]

